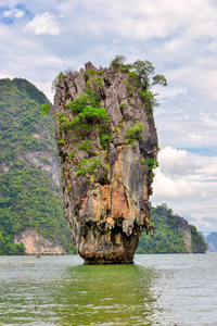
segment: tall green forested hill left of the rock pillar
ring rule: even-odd
[[[49,102],[22,78],[0,79],[0,254],[72,253]]]

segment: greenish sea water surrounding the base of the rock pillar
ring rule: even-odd
[[[217,254],[0,256],[0,325],[216,326]]]

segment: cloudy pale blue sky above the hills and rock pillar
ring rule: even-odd
[[[0,78],[26,78],[53,101],[60,73],[120,54],[149,60],[156,87],[159,167],[152,204],[217,231],[216,0],[1,0]]]

